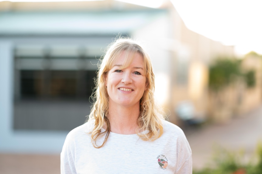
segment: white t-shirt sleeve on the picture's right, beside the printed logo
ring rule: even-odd
[[[177,141],[177,169],[176,174],[192,174],[192,151],[184,133]]]

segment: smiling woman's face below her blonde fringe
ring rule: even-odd
[[[125,62],[125,52],[112,63],[112,68],[107,72],[105,86],[109,95],[109,105],[132,107],[140,105],[146,90],[146,76],[143,59],[136,53],[133,61],[124,69],[121,65]]]

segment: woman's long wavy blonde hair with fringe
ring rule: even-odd
[[[107,118],[109,96],[107,88],[105,86],[105,79],[107,72],[112,68],[112,62],[119,58],[119,55],[125,51],[125,63],[121,68],[128,67],[133,61],[133,57],[136,53],[139,53],[143,58],[143,62],[146,69],[146,85],[147,88],[140,99],[140,115],[137,120],[139,130],[136,131],[138,136],[142,140],[156,140],[163,134],[162,114],[159,107],[157,107],[154,101],[154,88],[155,88],[155,76],[153,74],[153,68],[149,55],[144,49],[135,41],[129,38],[118,38],[112,44],[109,45],[105,56],[101,56],[100,63],[98,64],[98,74],[95,79],[96,87],[92,94],[92,99],[95,101],[91,107],[88,122],[94,122],[94,128],[91,130],[91,140],[95,148],[102,147],[110,133],[110,123]],[[105,131],[101,131],[103,126],[106,126]],[[102,145],[97,145],[97,138],[105,135],[105,139]]]

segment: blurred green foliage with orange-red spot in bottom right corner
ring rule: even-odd
[[[215,153],[215,168],[205,168],[193,171],[193,174],[261,174],[262,173],[262,143],[257,146],[258,162],[256,164],[244,164],[243,151],[230,152],[220,148]]]

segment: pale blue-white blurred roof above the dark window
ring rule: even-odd
[[[1,12],[0,35],[128,33],[164,14],[165,10]]]

